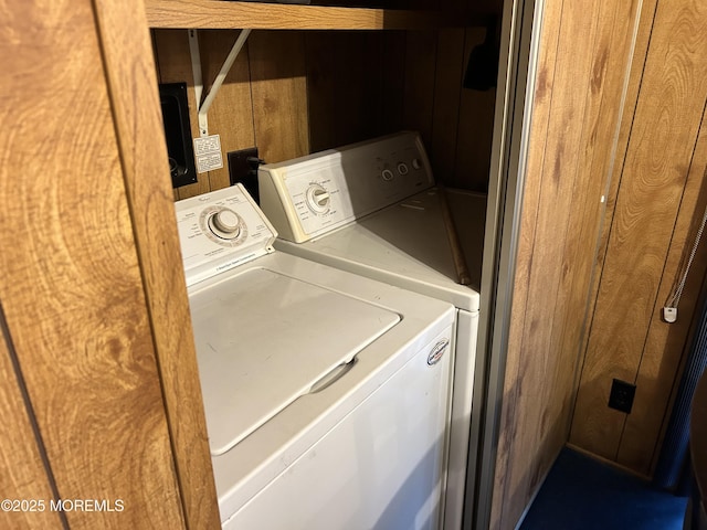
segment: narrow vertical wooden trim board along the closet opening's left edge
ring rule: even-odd
[[[187,285],[181,267],[165,265],[181,252],[145,9],[141,0],[94,6],[184,522],[218,528]]]

